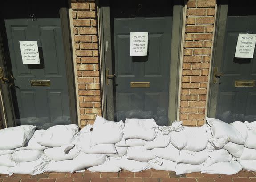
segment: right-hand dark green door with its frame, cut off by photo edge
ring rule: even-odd
[[[235,58],[240,33],[256,34],[256,2],[228,1],[220,7],[209,113],[227,123],[256,120],[256,51],[253,58]],[[222,40],[220,40],[222,39]],[[222,49],[223,51],[221,51]],[[213,83],[215,79],[216,83]],[[245,82],[244,82],[245,81]],[[246,85],[243,85],[247,83]],[[238,87],[240,84],[241,87]],[[242,84],[242,85],[241,85]],[[249,84],[250,87],[247,87]],[[214,113],[215,112],[215,113]]]

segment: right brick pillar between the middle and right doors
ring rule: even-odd
[[[216,0],[188,0],[180,119],[184,125],[204,124]]]

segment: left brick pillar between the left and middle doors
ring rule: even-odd
[[[72,0],[81,127],[102,115],[97,9],[94,0]]]

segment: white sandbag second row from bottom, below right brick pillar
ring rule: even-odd
[[[208,158],[208,150],[202,150],[199,152],[192,152],[188,150],[180,150],[177,156],[177,163],[185,164],[202,164]]]

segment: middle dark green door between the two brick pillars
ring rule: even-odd
[[[167,125],[173,2],[110,2],[115,119],[154,118]],[[148,32],[147,56],[130,56],[130,32]]]

